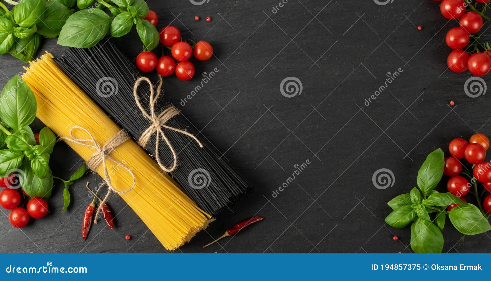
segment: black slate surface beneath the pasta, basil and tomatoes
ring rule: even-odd
[[[448,153],[453,138],[491,130],[489,94],[468,97],[464,83],[470,73],[446,69],[450,50],[444,36],[457,24],[440,15],[435,1],[285,0],[283,7],[279,2],[148,1],[159,14],[159,29],[175,25],[186,39],[212,43],[216,56],[195,63],[196,75],[189,82],[166,79],[165,97],[179,105],[201,84],[202,73],[217,68],[216,76],[180,109],[256,187],[233,212],[175,252],[411,252],[409,227],[384,224],[390,212],[386,202],[416,185],[417,170],[429,152],[440,147]],[[195,22],[195,15],[201,20]],[[141,50],[136,36],[132,32],[117,40],[129,58]],[[44,50],[56,56],[63,47],[44,40],[39,54]],[[22,72],[23,65],[1,56],[1,84]],[[387,73],[396,71],[399,76],[366,106],[365,99],[385,84]],[[287,77],[300,81],[301,94],[281,94]],[[450,100],[455,106],[448,105]],[[34,131],[42,127],[36,122]],[[289,180],[296,165],[307,160],[310,164]],[[65,144],[56,145],[51,160],[55,175],[68,177],[80,164]],[[379,169],[393,172],[393,186],[374,187],[372,176]],[[117,196],[110,199],[117,214],[115,229],[94,225],[82,241],[82,213],[90,200],[83,187],[87,180],[95,185],[101,179],[88,175],[71,186],[73,202],[63,214],[62,184],[56,182],[51,213],[25,228],[13,229],[2,209],[0,252],[166,252]],[[283,183],[287,187],[273,197]],[[445,190],[444,184],[438,188]],[[201,248],[253,215],[266,219]],[[463,235],[449,225],[447,219],[444,253],[491,250],[488,235],[461,241]],[[132,239],[125,240],[126,234]],[[392,241],[393,235],[400,240]]]

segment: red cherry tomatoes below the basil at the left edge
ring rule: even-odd
[[[11,210],[8,215],[10,224],[14,227],[24,227],[29,223],[29,217],[33,219],[42,219],[48,214],[48,203],[43,198],[28,199],[26,192],[21,197],[19,191],[9,188],[15,181],[12,174],[9,177],[0,178],[0,186],[3,187],[0,191],[0,206],[4,209]],[[25,207],[20,207],[23,201],[26,199],[27,203]]]

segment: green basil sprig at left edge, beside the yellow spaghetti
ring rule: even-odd
[[[36,98],[27,84],[14,76],[0,93],[0,177],[19,175],[22,188],[30,197],[47,200],[53,188],[49,167],[55,134],[48,128],[39,132],[39,144],[29,128],[36,116]]]

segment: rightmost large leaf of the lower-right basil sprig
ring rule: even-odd
[[[488,220],[472,204],[459,205],[448,211],[452,225],[463,234],[479,234],[491,230]]]

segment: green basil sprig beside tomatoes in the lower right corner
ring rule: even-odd
[[[448,215],[450,222],[463,234],[474,235],[491,230],[488,219],[478,207],[465,203],[450,193],[435,191],[443,175],[444,156],[441,149],[428,155],[416,178],[419,189],[399,195],[387,205],[393,211],[385,218],[388,225],[403,228],[411,224],[411,249],[415,253],[441,253],[441,230]],[[446,211],[450,204],[459,204]]]

